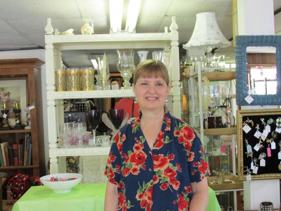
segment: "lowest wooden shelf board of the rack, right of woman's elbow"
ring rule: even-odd
[[[232,180],[234,183],[225,183],[225,184],[210,184],[211,181],[216,181],[218,178],[216,176],[207,177],[208,186],[215,190],[241,190],[243,189],[243,181],[238,180],[236,175],[226,175],[224,177],[225,180]]]

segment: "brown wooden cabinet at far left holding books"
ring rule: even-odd
[[[10,59],[0,60],[0,87],[5,87],[7,83],[13,83],[14,80],[25,79],[26,90],[21,95],[20,101],[26,99],[26,105],[21,105],[21,121],[25,119],[24,108],[27,105],[34,105],[30,110],[30,129],[10,129],[0,130],[0,141],[7,141],[10,146],[16,144],[21,138],[27,134],[31,135],[32,156],[31,165],[28,166],[9,166],[0,167],[0,171],[6,171],[8,174],[22,172],[31,175],[40,176],[40,163],[44,168],[44,144],[43,144],[43,124],[42,124],[42,106],[41,106],[41,77],[40,68],[43,62],[39,59]],[[2,83],[1,83],[2,82]],[[5,83],[4,83],[5,82]],[[14,81],[15,82],[15,81]],[[18,86],[18,84],[15,84]],[[20,87],[22,88],[22,87]],[[3,89],[4,90],[4,89]],[[15,93],[14,93],[15,95]],[[14,96],[15,97],[15,96]],[[17,98],[19,96],[16,96]],[[13,93],[11,93],[13,99]],[[25,101],[24,99],[24,101]],[[19,100],[19,99],[18,99]],[[39,160],[39,154],[42,159]]]

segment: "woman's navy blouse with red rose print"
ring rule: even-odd
[[[117,210],[188,211],[191,183],[209,175],[200,139],[166,110],[150,150],[140,118],[120,129],[109,152],[104,173],[118,185]]]

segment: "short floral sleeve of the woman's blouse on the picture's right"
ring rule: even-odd
[[[194,131],[193,131],[194,132]],[[187,152],[190,182],[200,182],[205,176],[209,176],[209,166],[204,160],[204,150],[201,140],[194,132],[194,139],[189,152]]]

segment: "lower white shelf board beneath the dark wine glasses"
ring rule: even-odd
[[[50,154],[52,154],[54,150],[56,150],[57,156],[108,155],[110,147],[50,148]]]

